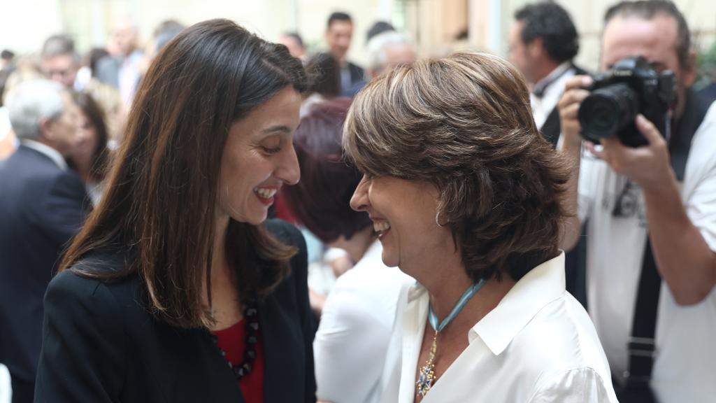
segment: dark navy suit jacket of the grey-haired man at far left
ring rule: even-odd
[[[20,146],[0,162],[0,362],[32,384],[42,346],[42,296],[64,245],[84,219],[84,185]],[[16,391],[14,401],[32,402]]]

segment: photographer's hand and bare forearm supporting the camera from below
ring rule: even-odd
[[[602,150],[597,151],[591,143],[587,148],[611,169],[642,186],[659,273],[676,303],[700,303],[716,285],[716,254],[686,213],[666,141],[642,115],[637,117],[637,128],[648,146],[629,148],[616,138],[606,138],[601,141]]]

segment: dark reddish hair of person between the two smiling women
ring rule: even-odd
[[[311,105],[294,134],[301,181],[282,190],[296,219],[324,243],[344,237],[371,224],[368,214],[350,207],[360,172],[342,158],[343,123],[350,98],[336,98]]]

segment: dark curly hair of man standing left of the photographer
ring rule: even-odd
[[[515,12],[516,21],[522,22],[522,42],[528,44],[536,38],[555,62],[574,59],[579,53],[579,34],[569,13],[552,1],[528,4]]]

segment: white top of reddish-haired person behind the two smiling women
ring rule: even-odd
[[[336,403],[374,403],[395,307],[403,285],[415,283],[382,261],[375,241],[362,259],[336,280],[321,314],[314,358],[316,396]]]

